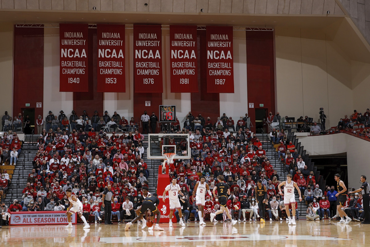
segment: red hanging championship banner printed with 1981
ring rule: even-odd
[[[169,26],[171,93],[198,92],[196,26]]]

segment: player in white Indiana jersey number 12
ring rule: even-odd
[[[289,222],[288,225],[295,225],[296,224],[296,199],[294,196],[294,188],[297,189],[299,194],[299,201],[302,201],[302,196],[300,193],[300,189],[295,181],[292,181],[292,175],[288,174],[286,175],[286,181],[283,181],[277,186],[279,188],[279,194],[283,195],[281,192],[281,187],[284,186],[284,205],[285,205],[285,212],[288,216]],[[292,216],[293,219],[290,218],[290,212],[289,212],[289,204],[292,204]]]

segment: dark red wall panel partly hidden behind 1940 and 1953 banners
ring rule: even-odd
[[[94,115],[94,111],[97,110],[99,116],[104,115],[103,113],[103,93],[97,92],[97,29],[88,29],[88,57],[92,58],[88,61],[89,66],[89,83],[88,92],[74,92],[73,93],[73,110],[76,111],[78,116],[81,116],[83,110],[87,111],[87,114],[91,117]],[[67,113],[65,113],[67,115]],[[68,113],[69,114],[69,113]],[[108,113],[112,116],[113,113]]]

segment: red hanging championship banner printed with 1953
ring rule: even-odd
[[[126,91],[125,25],[97,25],[98,92]]]

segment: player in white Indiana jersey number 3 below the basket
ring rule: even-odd
[[[179,217],[180,217],[180,225],[185,226],[184,221],[182,221],[182,213],[181,213],[181,205],[179,201],[178,194],[181,196],[184,196],[183,193],[181,193],[181,188],[178,184],[176,184],[177,179],[174,177],[172,178],[172,183],[170,183],[168,186],[166,186],[164,192],[163,192],[163,202],[166,202],[166,193],[168,191],[168,198],[169,198],[169,226],[172,226],[172,213],[174,212],[175,208],[179,211]]]

